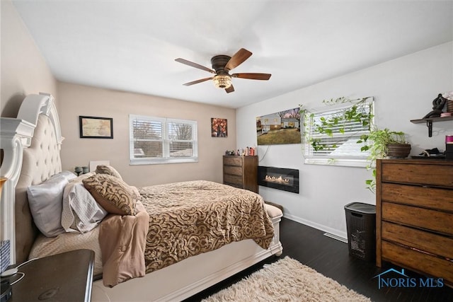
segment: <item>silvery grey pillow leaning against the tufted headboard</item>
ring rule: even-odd
[[[35,225],[47,237],[64,233],[62,228],[62,201],[67,175],[56,174],[40,185],[27,188],[28,204]]]

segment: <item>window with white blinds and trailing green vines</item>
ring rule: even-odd
[[[348,103],[304,115],[305,163],[365,167],[369,151],[362,151],[360,137],[369,133],[373,115],[373,98],[327,103]]]

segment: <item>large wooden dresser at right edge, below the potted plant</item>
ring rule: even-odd
[[[376,172],[377,266],[453,284],[453,161],[383,159]]]

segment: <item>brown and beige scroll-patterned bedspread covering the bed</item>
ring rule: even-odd
[[[267,249],[273,224],[260,195],[197,180],[139,188],[149,213],[147,273],[243,239]]]

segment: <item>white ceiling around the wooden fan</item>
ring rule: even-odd
[[[59,81],[239,108],[453,40],[453,1],[13,0]],[[253,52],[235,92],[211,68]],[[452,54],[453,55],[453,54]]]

